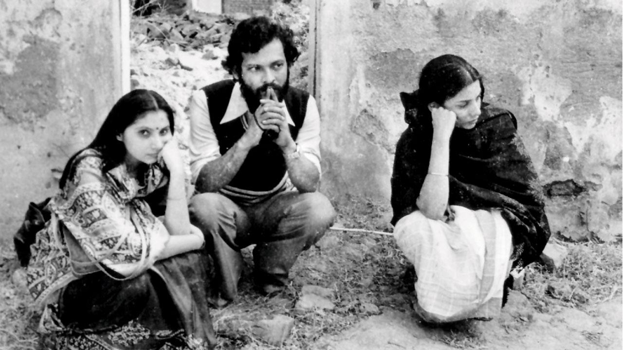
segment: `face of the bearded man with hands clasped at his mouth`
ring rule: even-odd
[[[281,40],[275,38],[255,53],[242,53],[240,66],[240,88],[249,105],[255,111],[260,98],[266,97],[266,90],[272,87],[281,101],[288,90],[290,77],[288,64],[283,53]]]

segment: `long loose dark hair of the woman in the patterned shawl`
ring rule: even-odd
[[[117,140],[117,135],[123,133],[128,126],[132,125],[144,113],[158,110],[163,110],[166,113],[169,120],[169,128],[171,128],[171,134],[173,134],[173,109],[157,92],[136,89],[123,95],[108,113],[100,130],[95,135],[95,139],[87,147],[80,149],[80,151],[69,158],[60,177],[60,188],[65,187],[65,182],[73,175],[74,166],[80,161],[80,159],[76,159],[78,154],[87,148],[95,149],[102,154],[102,171],[104,173],[121,164],[123,159],[125,159],[126,149],[123,142]]]

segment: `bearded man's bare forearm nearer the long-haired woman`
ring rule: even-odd
[[[206,163],[197,176],[196,190],[200,193],[216,192],[229,184],[247,158],[249,149],[238,141],[221,157]]]

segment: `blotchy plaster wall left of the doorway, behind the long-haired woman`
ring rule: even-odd
[[[121,3],[0,0],[1,238],[121,96]]]

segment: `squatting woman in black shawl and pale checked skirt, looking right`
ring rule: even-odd
[[[541,186],[510,111],[482,102],[482,77],[456,55],[401,93],[409,124],[396,146],[392,224],[414,263],[416,311],[430,322],[491,319],[505,280],[549,239]]]

